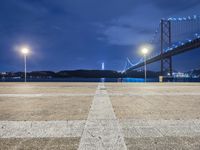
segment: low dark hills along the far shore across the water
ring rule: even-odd
[[[200,77],[200,69],[186,72],[190,77]],[[160,72],[147,71],[148,78],[159,77]],[[24,78],[24,72],[0,73],[0,78]],[[32,71],[27,73],[28,78],[143,78],[144,71],[132,70],[129,72],[117,72],[113,70],[63,70],[53,71]]]

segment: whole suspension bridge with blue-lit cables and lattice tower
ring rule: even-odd
[[[200,16],[161,19],[148,43],[153,47],[154,54],[147,57],[146,64],[160,61],[160,75],[172,76],[172,57],[200,47]],[[127,58],[124,72],[144,65],[143,58],[135,64]]]

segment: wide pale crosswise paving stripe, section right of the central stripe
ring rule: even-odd
[[[120,120],[125,137],[200,136],[200,120]]]

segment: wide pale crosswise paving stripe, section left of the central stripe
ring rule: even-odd
[[[80,137],[85,120],[0,121],[0,138]]]

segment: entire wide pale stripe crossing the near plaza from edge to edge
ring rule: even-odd
[[[93,144],[99,144],[99,147],[101,148],[102,145],[98,143],[100,140],[105,142],[105,145],[110,145],[110,143],[114,142],[118,144],[119,147],[122,146],[122,133],[119,134],[119,132],[123,132],[124,137],[127,138],[200,136],[200,119],[91,119],[87,120],[87,124],[85,124],[85,122],[85,120],[0,121],[0,138],[44,138],[83,136],[82,138],[85,139],[82,139],[82,142],[86,142],[85,145],[87,144],[87,146],[92,148],[96,145],[91,146],[90,144],[95,142]],[[116,137],[117,135],[119,135],[119,138]]]

